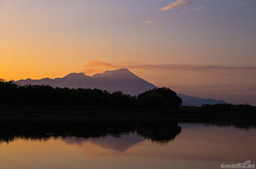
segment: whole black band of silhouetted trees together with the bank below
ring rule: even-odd
[[[141,95],[131,96],[100,89],[17,86],[1,81],[0,95],[0,124],[7,127],[83,127],[84,124],[93,123],[100,127],[152,125],[157,128],[162,124],[168,127],[173,121],[242,128],[256,126],[254,106],[181,106],[182,99],[167,88],[152,89]]]

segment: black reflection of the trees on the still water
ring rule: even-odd
[[[0,125],[0,142],[12,142],[14,139],[38,139],[67,138],[75,136],[79,138],[106,138],[113,136],[121,138],[123,134],[137,133],[144,139],[153,142],[169,142],[175,139],[182,129],[176,121],[159,123],[158,121],[123,121],[122,123],[99,123],[95,122],[64,125],[64,124],[26,124],[26,125]]]

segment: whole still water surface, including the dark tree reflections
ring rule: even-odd
[[[222,163],[256,162],[256,130],[248,126],[173,121],[26,126],[1,127],[0,168],[210,169]]]

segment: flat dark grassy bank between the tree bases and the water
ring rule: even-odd
[[[83,106],[0,106],[0,122],[33,121],[37,123],[84,123],[87,120],[176,120],[179,122],[231,122],[248,123],[256,121],[255,107],[249,105],[205,105],[179,109],[122,109],[94,108]]]

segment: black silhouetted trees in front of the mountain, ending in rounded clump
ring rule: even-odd
[[[180,108],[182,99],[169,88],[156,88],[140,95],[101,89],[69,89],[52,86],[19,86],[0,80],[0,105],[79,105],[109,108]]]

